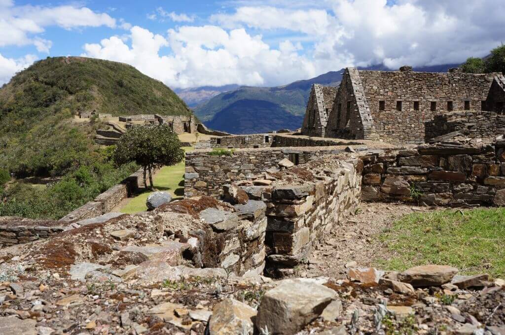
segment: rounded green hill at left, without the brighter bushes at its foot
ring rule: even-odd
[[[65,175],[92,159],[93,124],[77,111],[113,116],[189,115],[186,104],[162,82],[134,67],[82,57],[47,58],[0,89],[0,167],[17,176]]]

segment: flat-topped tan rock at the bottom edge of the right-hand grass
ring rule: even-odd
[[[450,282],[458,269],[448,265],[421,265],[398,274],[398,280],[413,287],[440,286]]]

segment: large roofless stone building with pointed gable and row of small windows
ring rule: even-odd
[[[504,101],[505,78],[500,73],[414,72],[409,66],[391,72],[347,68],[320,136],[424,143],[435,117],[457,110],[502,113]],[[308,128],[302,133],[316,136]]]

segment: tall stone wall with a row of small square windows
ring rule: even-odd
[[[451,111],[448,102],[452,103],[452,110],[464,110],[465,101],[469,101],[470,110],[481,111],[495,75],[427,73],[411,69],[360,71],[380,138],[402,143],[424,143],[425,122]],[[384,101],[384,110],[380,110],[380,101]],[[401,110],[397,110],[398,102]]]

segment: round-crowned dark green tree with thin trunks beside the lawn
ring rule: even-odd
[[[113,157],[118,165],[134,161],[142,166],[144,186],[147,188],[148,172],[150,188],[153,188],[153,170],[181,162],[184,150],[177,135],[166,125],[133,126],[119,139]]]

